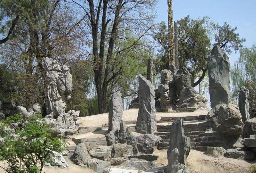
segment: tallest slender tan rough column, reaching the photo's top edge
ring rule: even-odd
[[[174,27],[173,27],[173,7],[172,0],[168,1],[168,36],[169,36],[169,65],[174,65]]]

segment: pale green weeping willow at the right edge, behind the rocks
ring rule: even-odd
[[[243,47],[240,49],[238,61],[230,70],[232,85],[232,97],[238,97],[239,90],[242,86],[249,89],[250,108],[256,107],[256,44],[251,48]]]

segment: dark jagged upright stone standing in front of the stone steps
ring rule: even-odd
[[[183,120],[179,119],[172,123],[170,130],[170,148],[167,152],[167,158],[169,153],[173,149],[177,148],[179,151],[179,163],[186,165],[186,158],[190,152],[190,138],[184,135]]]

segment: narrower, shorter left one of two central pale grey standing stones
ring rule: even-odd
[[[122,104],[122,95],[120,91],[115,92],[110,100],[109,112],[108,112],[108,134],[107,145],[114,144],[118,132],[120,129],[120,123],[123,116],[123,104]]]

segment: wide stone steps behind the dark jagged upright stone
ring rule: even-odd
[[[218,138],[218,132],[211,131],[209,120],[206,115],[184,117],[162,117],[157,122],[158,132],[155,135],[162,139],[158,144],[158,150],[169,148],[169,136],[172,122],[183,119],[184,135],[190,137],[191,149],[206,151],[207,146],[221,146],[222,141]]]

